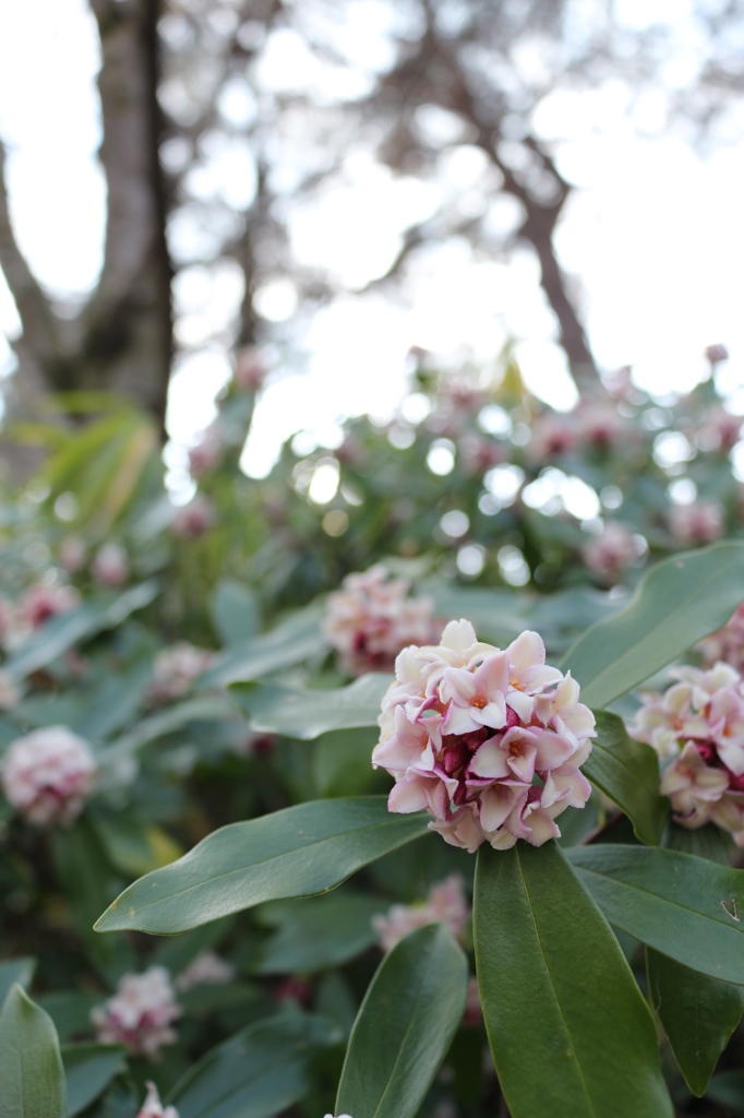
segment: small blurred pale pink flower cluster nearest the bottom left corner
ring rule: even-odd
[[[152,1060],[177,1040],[171,1022],[181,1013],[165,967],[150,967],[141,975],[124,975],[113,997],[90,1011],[90,1020],[104,1044],[126,1044]]]

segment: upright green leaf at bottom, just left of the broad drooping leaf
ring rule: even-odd
[[[406,936],[382,960],[359,1011],[336,1114],[413,1118],[462,1017],[468,964],[442,925]]]

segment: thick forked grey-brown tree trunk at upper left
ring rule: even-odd
[[[90,0],[101,35],[101,162],[108,212],[97,288],[74,319],[55,311],[23,259],[8,214],[0,152],[0,266],[23,334],[11,408],[32,415],[46,390],[111,390],[161,428],[172,359],[171,262],[159,162],[160,0]]]

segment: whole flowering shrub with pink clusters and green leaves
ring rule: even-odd
[[[189,503],[121,400],[8,500],[0,1111],[734,1111],[741,416],[503,372],[259,481],[248,350]]]

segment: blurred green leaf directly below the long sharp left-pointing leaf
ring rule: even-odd
[[[378,898],[343,891],[276,903],[283,907],[278,928],[255,967],[263,975],[315,974],[347,963],[374,944],[372,917],[385,908]]]

